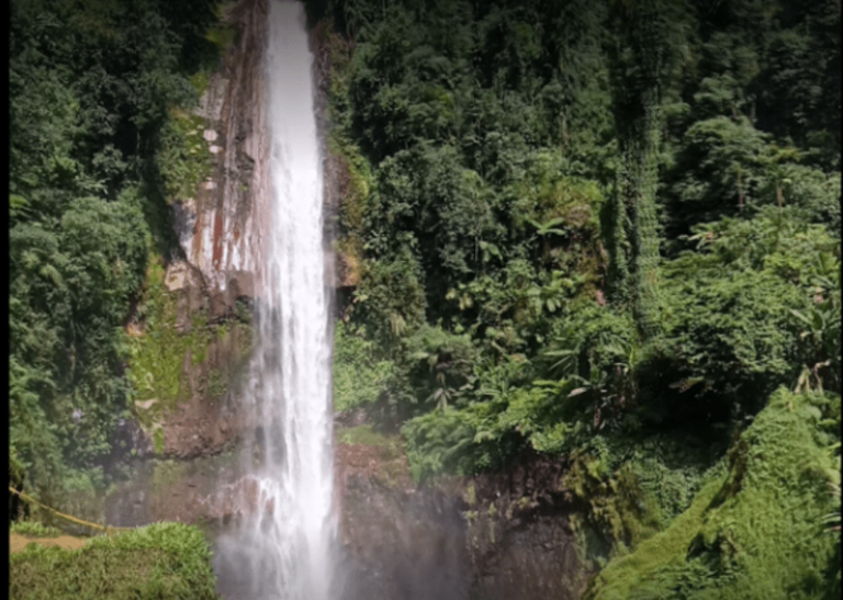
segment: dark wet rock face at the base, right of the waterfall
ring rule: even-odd
[[[347,471],[346,453],[338,456]],[[575,507],[561,490],[563,467],[528,456],[499,474],[422,489],[346,474],[342,600],[580,598],[589,573],[569,522]]]

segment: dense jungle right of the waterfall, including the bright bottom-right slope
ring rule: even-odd
[[[614,544],[589,597],[839,593],[840,5],[310,11],[337,407],[401,428],[417,479],[567,460]]]

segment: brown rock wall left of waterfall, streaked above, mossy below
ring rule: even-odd
[[[193,111],[212,168],[193,194],[170,199],[180,248],[166,264],[159,302],[171,320],[148,361],[177,363],[170,389],[178,393],[135,403],[135,418],[117,431],[121,450],[112,462],[124,463],[130,476],[105,499],[110,524],[222,518],[243,495],[232,451],[255,427],[239,409],[238,387],[255,336],[254,282],[270,202],[267,14],[266,0],[241,0],[223,15],[238,33]],[[145,335],[143,322],[130,328]]]

